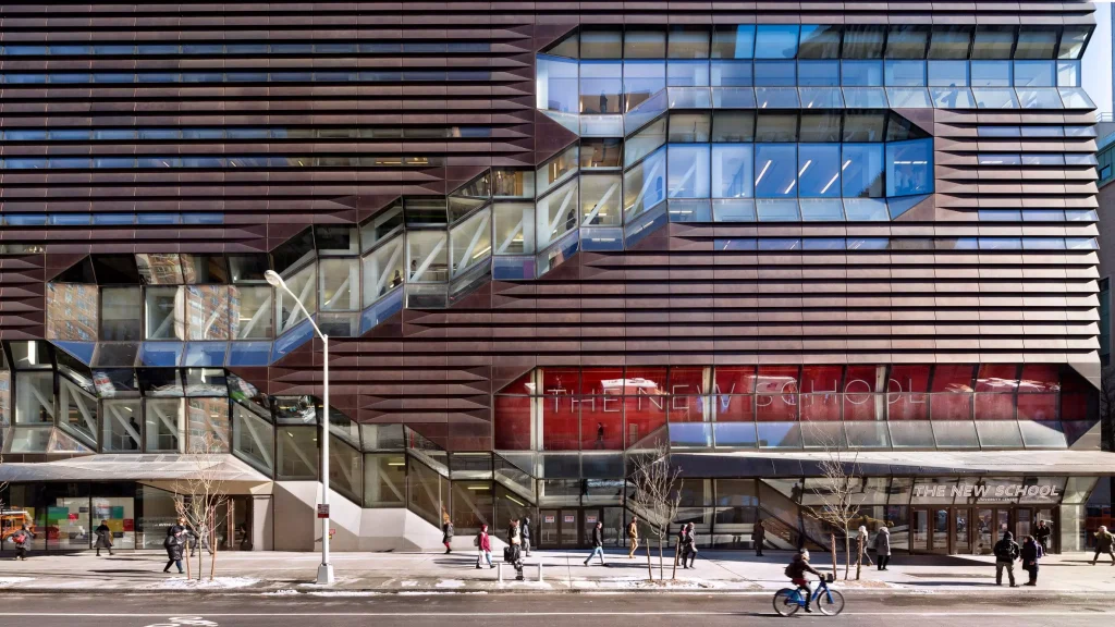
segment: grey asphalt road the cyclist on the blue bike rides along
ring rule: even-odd
[[[1105,599],[855,596],[844,614],[782,618],[767,596],[734,595],[432,595],[432,596],[116,596],[0,597],[0,626],[35,627],[738,627],[820,620],[824,625],[929,627],[1094,627],[1111,625]]]

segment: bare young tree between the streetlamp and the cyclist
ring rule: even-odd
[[[631,481],[634,494],[631,504],[643,518],[650,532],[658,540],[658,578],[665,578],[662,543],[670,537],[670,522],[678,515],[681,504],[681,469],[670,465],[669,448],[658,442],[651,451],[633,457]],[[650,542],[647,542],[647,575],[655,580],[650,561]]]

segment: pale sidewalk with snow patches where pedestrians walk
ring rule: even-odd
[[[14,561],[11,551],[0,561],[0,592],[165,592],[227,591],[270,594],[418,594],[488,591],[640,591],[662,590],[734,594],[769,594],[786,586],[783,576],[791,553],[768,551],[757,558],[745,551],[702,550],[696,568],[678,568],[677,581],[649,585],[647,557],[630,560],[627,551],[613,550],[608,566],[585,567],[588,551],[534,551],[526,560],[526,581],[514,581],[514,570],[504,568],[504,582],[496,570],[486,566],[476,570],[476,554],[454,551],[442,553],[334,553],[337,582],[322,587],[313,583],[318,553],[227,552],[217,558],[216,580],[187,581],[177,573],[164,575],[166,557],[162,552],[117,552],[97,558],[91,551],[77,554],[32,553],[28,561]],[[1115,591],[1115,567],[1108,562],[1089,566],[1090,553],[1049,556],[1041,562],[1037,591],[1103,592]],[[666,577],[672,569],[672,556],[666,556]],[[542,582],[535,565],[543,565]],[[193,568],[196,568],[196,559]],[[658,578],[657,557],[655,577]],[[814,566],[831,570],[826,553],[814,553]],[[209,575],[209,557],[203,569]],[[196,573],[195,573],[196,575]],[[854,567],[852,577],[854,578]],[[1026,572],[1016,563],[1019,583]],[[843,567],[838,578],[843,577]],[[1006,582],[1005,582],[1006,583]],[[852,594],[1032,594],[1035,589],[995,586],[993,558],[946,556],[895,556],[885,572],[864,567],[861,581],[840,581],[837,587]]]

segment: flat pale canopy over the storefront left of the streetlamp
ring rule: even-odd
[[[264,484],[271,481],[252,466],[230,454],[214,455],[203,466],[191,455],[100,454],[42,463],[0,464],[0,482],[28,481],[182,481],[196,475],[200,467],[213,471],[223,482]]]

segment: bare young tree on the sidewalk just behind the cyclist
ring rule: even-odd
[[[817,520],[842,530],[844,536],[844,580],[849,578],[852,566],[851,528],[860,518],[860,505],[863,496],[860,494],[860,478],[857,452],[842,450],[840,444],[820,430],[814,430],[814,437],[824,450],[825,457],[817,466],[821,470],[821,485],[813,489],[816,505],[806,505],[809,514]],[[836,565],[836,546],[832,547],[833,568]]]

